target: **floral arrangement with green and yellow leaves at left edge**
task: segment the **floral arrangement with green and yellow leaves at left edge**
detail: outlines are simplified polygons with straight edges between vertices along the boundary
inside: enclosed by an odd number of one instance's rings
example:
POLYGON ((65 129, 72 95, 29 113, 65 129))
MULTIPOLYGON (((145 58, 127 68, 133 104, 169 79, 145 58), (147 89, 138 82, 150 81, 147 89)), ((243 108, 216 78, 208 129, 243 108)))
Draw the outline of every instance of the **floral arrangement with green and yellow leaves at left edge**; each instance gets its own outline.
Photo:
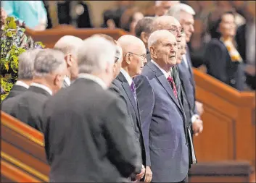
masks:
POLYGON ((25 24, 14 17, 1 19, 1 101, 8 95, 17 81, 18 57, 31 48, 44 48, 41 42, 34 42, 25 35, 25 24))

